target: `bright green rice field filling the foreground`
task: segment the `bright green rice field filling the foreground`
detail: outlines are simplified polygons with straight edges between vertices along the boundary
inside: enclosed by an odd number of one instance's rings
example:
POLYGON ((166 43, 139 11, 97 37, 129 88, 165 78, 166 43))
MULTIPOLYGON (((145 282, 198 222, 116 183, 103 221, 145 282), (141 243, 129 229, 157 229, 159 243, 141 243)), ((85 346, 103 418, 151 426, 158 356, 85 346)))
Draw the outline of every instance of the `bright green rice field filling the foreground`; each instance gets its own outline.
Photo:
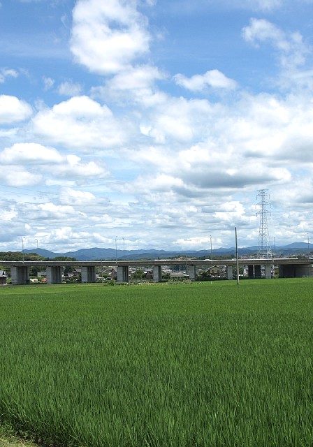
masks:
POLYGON ((46 446, 313 446, 313 279, 0 289, 0 424, 46 446))

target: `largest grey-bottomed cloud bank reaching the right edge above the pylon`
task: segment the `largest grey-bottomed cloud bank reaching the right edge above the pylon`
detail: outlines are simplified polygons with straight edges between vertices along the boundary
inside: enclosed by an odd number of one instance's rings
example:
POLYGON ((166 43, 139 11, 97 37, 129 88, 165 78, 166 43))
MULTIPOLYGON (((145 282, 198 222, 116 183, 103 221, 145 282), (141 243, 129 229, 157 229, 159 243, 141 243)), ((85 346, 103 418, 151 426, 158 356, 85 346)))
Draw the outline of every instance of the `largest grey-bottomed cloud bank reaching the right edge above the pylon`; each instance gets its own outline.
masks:
POLYGON ((141 175, 123 191, 156 203, 195 203, 212 191, 289 184, 298 167, 312 167, 312 119, 310 98, 245 94, 235 108, 168 98, 145 114, 141 131, 153 143, 127 152, 141 175))

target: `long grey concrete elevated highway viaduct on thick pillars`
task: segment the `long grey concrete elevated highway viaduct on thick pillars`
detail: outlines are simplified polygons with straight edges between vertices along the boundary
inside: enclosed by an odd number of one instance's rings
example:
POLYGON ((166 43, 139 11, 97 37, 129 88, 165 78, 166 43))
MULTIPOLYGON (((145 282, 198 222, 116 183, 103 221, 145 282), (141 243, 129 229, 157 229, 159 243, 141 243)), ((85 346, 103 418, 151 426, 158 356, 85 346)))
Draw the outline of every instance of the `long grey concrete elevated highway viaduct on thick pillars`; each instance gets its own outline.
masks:
MULTIPOLYGON (((117 269, 117 281, 129 281, 130 267, 150 267, 153 269, 154 282, 162 279, 162 266, 183 265, 188 266, 189 279, 196 279, 198 268, 209 268, 212 265, 226 266, 227 279, 233 279, 233 267, 236 259, 158 259, 154 261, 1 261, 3 268, 10 268, 12 284, 27 284, 29 282, 29 268, 41 267, 47 271, 48 284, 60 284, 63 279, 65 267, 81 268, 82 282, 89 283, 96 281, 96 267, 114 267, 117 269)), ((260 278, 261 270, 265 278, 272 277, 273 266, 279 268, 279 277, 313 277, 313 261, 310 259, 297 258, 249 258, 239 259, 239 265, 247 266, 249 278, 260 278)))

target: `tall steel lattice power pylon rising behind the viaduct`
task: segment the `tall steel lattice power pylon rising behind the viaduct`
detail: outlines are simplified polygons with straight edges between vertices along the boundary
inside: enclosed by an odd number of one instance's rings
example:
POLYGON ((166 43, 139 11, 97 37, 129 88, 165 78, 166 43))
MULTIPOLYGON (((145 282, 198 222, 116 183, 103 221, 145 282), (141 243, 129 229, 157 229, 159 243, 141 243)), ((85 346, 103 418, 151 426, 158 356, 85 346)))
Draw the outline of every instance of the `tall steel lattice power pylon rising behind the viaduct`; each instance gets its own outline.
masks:
POLYGON ((268 194, 268 189, 259 189, 259 194, 256 199, 260 198, 257 205, 260 210, 256 213, 256 216, 260 216, 260 229, 259 229, 259 247, 258 256, 259 258, 270 258, 272 256, 272 248, 270 247, 270 235, 268 233, 268 214, 270 211, 267 207, 270 206, 269 202, 266 202, 265 198, 270 198, 268 194))

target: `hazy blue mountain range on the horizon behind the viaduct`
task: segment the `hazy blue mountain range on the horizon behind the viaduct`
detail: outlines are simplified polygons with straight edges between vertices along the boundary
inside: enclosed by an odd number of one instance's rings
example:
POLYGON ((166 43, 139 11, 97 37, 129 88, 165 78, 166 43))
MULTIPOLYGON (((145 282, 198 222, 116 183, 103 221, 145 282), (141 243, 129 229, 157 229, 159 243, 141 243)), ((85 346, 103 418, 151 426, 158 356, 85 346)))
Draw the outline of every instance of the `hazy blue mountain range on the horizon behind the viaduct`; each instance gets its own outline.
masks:
MULTIPOLYGON (((238 248, 239 256, 256 254, 258 247, 244 247, 238 248)), ((288 256, 295 254, 307 254, 308 251, 313 251, 313 244, 306 244, 305 242, 293 242, 293 244, 285 245, 283 247, 275 247, 276 256, 288 256)), ((24 253, 36 253, 45 258, 58 258, 60 256, 66 256, 69 258, 75 258, 78 261, 115 261, 127 260, 127 259, 166 259, 174 258, 178 256, 197 256, 201 258, 210 258, 210 250, 180 250, 180 251, 166 251, 155 249, 142 249, 142 250, 117 250, 115 249, 101 249, 95 247, 92 249, 80 249, 77 251, 66 251, 66 253, 54 253, 53 251, 44 249, 30 249, 24 250, 24 253)), ((212 249, 212 256, 235 256, 235 247, 212 249)))

